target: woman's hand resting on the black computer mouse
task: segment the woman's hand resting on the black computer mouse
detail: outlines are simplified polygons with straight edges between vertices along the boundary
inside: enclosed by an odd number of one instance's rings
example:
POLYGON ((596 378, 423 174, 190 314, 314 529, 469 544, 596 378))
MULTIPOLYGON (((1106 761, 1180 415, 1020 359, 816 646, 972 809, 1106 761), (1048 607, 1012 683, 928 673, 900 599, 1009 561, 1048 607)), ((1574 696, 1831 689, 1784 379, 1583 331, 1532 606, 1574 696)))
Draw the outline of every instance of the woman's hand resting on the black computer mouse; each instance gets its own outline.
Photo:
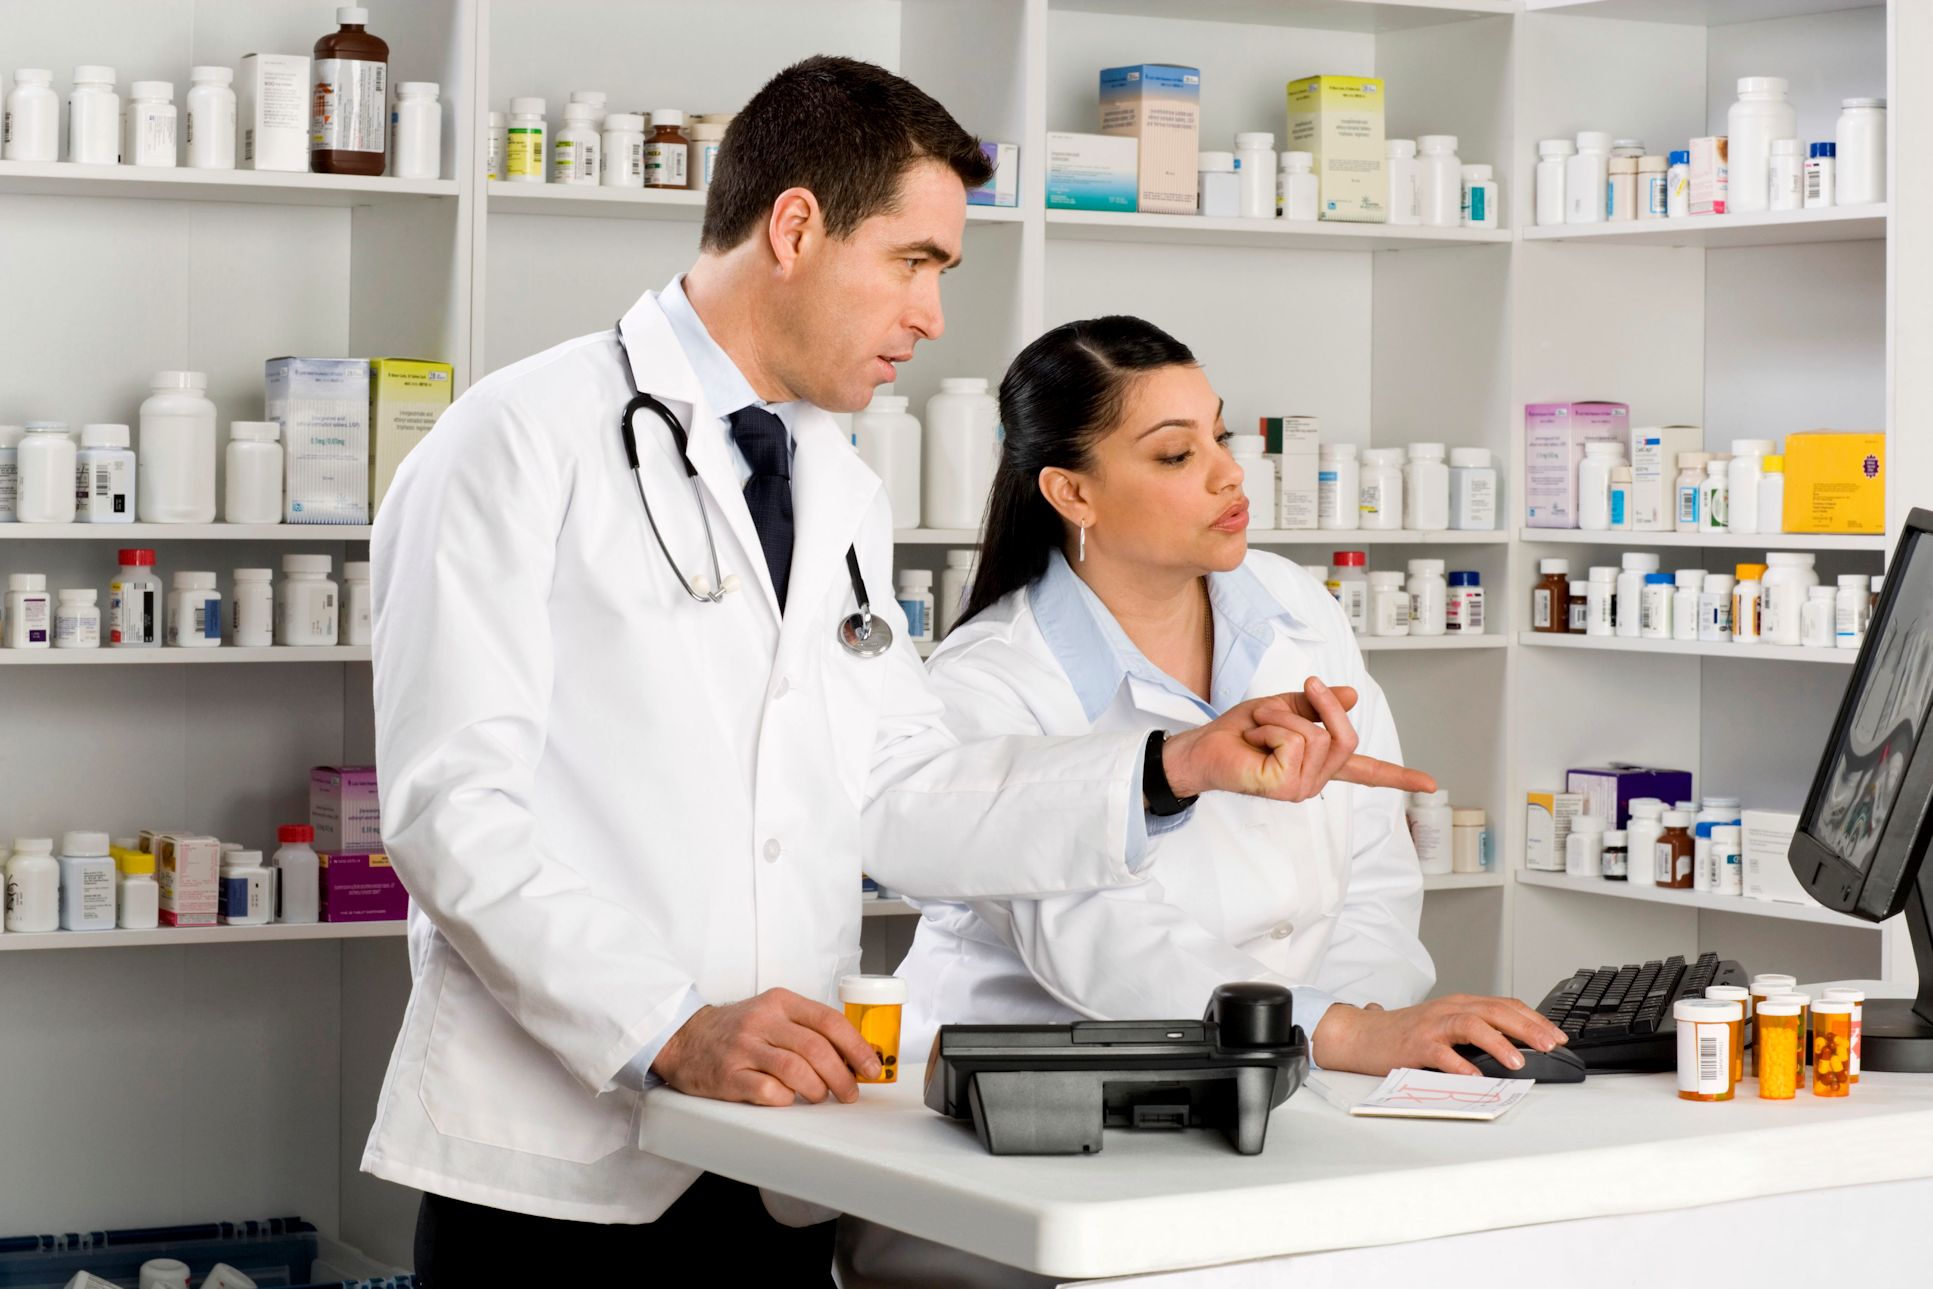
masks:
POLYGON ((1506 1069, 1521 1069, 1517 1047, 1550 1051, 1566 1038, 1529 1003, 1452 993, 1396 1011, 1336 1003, 1322 1013, 1313 1042, 1316 1065, 1330 1071, 1388 1074, 1392 1069, 1438 1069, 1475 1074, 1477 1067, 1456 1053, 1457 1044, 1483 1047, 1506 1069))

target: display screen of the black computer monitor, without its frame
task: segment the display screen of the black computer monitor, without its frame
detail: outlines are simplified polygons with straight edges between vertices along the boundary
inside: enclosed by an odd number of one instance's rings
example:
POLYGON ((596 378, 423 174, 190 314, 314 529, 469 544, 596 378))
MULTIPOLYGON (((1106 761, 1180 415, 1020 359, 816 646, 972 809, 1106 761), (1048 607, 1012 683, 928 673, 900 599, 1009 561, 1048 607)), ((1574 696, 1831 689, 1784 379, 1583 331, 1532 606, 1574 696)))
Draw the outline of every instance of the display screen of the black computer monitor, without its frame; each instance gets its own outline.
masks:
POLYGON ((1802 829, 1861 874, 1898 804, 1933 700, 1933 549, 1908 530, 1887 570, 1892 611, 1865 642, 1865 684, 1831 750, 1825 792, 1802 829))

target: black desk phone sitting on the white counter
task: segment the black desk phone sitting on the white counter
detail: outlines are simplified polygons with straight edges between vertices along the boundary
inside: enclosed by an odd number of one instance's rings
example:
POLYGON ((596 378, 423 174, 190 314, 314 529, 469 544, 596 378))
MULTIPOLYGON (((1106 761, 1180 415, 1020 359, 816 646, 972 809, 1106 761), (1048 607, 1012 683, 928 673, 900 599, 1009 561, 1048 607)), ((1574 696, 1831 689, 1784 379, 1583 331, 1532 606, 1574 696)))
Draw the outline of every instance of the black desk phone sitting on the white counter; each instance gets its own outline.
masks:
POLYGON ((1094 1154, 1102 1127, 1220 1129, 1253 1156, 1307 1074, 1289 991, 1251 982, 1220 986, 1200 1020, 941 1026, 926 1103, 997 1156, 1094 1154))

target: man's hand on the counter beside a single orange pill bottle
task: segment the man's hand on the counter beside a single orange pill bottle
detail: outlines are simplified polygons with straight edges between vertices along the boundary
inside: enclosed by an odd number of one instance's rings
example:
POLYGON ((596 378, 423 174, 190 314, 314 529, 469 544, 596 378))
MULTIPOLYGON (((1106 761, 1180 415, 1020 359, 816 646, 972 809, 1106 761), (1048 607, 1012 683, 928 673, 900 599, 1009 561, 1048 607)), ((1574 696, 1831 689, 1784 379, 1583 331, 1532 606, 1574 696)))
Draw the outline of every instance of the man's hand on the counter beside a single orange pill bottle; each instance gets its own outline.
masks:
POLYGON ((793 1098, 858 1100, 858 1071, 880 1076, 880 1057, 843 1013, 791 989, 702 1007, 657 1051, 651 1073, 678 1092, 717 1102, 791 1105, 793 1098))

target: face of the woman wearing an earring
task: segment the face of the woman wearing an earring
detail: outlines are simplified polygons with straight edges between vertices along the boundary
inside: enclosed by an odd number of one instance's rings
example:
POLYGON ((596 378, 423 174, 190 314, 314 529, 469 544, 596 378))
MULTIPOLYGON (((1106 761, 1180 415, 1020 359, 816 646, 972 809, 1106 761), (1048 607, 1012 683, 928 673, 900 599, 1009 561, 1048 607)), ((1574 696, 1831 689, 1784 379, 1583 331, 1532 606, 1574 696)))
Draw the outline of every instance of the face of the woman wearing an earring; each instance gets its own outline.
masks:
MULTIPOLYGON (((1227 439, 1222 400, 1202 369, 1158 367, 1129 387, 1119 423, 1092 448, 1092 468, 1069 472, 1079 499, 1055 497, 1046 477, 1042 487, 1063 516, 1086 520, 1090 559, 1227 572, 1249 553, 1251 518, 1227 439)), ((1274 516, 1258 518, 1268 526, 1274 516)))

